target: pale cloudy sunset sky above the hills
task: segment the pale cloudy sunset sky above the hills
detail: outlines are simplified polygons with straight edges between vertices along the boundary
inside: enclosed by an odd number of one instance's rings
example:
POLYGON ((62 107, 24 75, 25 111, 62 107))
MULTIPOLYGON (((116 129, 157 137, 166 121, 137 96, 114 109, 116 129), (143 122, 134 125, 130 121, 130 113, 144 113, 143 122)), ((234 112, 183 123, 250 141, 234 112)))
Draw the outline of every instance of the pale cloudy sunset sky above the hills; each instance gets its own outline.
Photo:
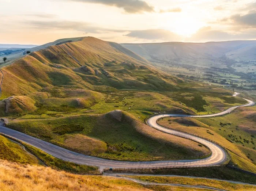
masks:
POLYGON ((0 43, 256 40, 251 0, 0 0, 0 43))

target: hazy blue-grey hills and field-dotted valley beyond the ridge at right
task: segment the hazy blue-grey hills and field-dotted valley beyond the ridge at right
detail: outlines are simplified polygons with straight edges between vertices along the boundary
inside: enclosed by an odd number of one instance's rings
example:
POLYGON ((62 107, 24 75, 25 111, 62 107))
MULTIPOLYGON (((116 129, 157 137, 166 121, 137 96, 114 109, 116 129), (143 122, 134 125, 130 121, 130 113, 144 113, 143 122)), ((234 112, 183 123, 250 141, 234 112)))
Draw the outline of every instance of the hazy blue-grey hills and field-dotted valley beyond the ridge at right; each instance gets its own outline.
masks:
POLYGON ((255 90, 256 41, 122 44, 183 79, 255 90))

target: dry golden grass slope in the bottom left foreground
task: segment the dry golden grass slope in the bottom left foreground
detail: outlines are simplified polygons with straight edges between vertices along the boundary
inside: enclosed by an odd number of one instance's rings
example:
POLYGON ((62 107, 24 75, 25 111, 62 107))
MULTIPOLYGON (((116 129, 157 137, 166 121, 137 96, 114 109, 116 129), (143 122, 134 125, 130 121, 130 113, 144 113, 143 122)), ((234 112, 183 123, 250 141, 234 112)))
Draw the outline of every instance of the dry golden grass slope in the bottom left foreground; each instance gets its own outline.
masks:
MULTIPOLYGON (((19 165, 0 160, 1 191, 150 191, 197 190, 182 187, 142 186, 141 184, 114 177, 74 175, 49 167, 19 165)), ((202 190, 202 189, 200 189, 202 190)))

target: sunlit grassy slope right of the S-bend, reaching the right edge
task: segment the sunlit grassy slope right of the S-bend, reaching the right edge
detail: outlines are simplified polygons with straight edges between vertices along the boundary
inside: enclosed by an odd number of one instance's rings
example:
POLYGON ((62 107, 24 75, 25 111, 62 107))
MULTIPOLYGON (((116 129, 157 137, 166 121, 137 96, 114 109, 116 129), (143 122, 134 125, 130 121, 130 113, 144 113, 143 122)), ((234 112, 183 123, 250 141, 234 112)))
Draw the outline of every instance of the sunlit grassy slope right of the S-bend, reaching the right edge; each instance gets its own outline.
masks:
POLYGON ((214 118, 186 118, 186 121, 164 118, 159 123, 218 142, 230 151, 231 164, 247 171, 256 172, 255 137, 253 137, 255 122, 253 117, 248 118, 250 116, 248 114, 253 116, 254 110, 255 107, 238 108, 228 115, 214 118))

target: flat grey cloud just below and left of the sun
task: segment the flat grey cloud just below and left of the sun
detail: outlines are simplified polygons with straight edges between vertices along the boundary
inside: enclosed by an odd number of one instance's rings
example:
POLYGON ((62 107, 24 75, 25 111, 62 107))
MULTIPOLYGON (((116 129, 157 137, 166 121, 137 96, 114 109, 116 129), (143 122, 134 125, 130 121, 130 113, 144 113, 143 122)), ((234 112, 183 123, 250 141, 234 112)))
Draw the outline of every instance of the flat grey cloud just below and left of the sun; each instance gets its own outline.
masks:
POLYGON ((163 40, 163 41, 180 41, 181 37, 169 30, 149 29, 134 30, 125 35, 127 37, 147 39, 147 40, 163 40))

